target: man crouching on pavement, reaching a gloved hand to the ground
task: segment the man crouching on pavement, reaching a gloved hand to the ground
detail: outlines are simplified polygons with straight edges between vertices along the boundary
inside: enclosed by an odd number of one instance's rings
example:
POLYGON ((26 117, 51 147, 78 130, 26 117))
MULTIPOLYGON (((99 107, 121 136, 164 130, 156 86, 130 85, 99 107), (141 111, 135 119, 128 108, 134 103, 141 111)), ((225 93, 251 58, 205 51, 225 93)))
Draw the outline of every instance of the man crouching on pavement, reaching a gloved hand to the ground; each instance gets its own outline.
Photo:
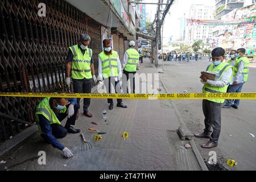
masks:
POLYGON ((78 111, 76 98, 44 98, 36 107, 36 121, 39 124, 41 137, 46 142, 51 143, 54 148, 63 151, 66 158, 73 156, 69 148, 64 147, 57 138, 64 138, 67 133, 80 133, 79 129, 74 129, 76 114, 78 111), (61 125, 68 117, 65 127, 61 125))

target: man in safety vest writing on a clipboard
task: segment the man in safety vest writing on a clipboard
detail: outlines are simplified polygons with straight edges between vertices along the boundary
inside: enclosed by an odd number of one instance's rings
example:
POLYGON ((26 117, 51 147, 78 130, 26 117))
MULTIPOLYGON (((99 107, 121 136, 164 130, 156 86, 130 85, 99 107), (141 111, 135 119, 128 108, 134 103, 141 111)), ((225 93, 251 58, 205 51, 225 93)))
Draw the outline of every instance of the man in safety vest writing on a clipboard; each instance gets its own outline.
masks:
MULTIPOLYGON (((226 93, 233 71, 228 63, 224 63, 224 60, 225 50, 221 47, 213 49, 212 64, 207 67, 207 72, 215 73, 216 80, 208 80, 207 77, 201 75, 201 82, 204 84, 203 93, 226 93)), ((201 145, 203 148, 218 146, 221 132, 221 104, 224 101, 222 99, 203 100, 205 129, 203 133, 195 134, 195 137, 210 139, 209 142, 201 145)))

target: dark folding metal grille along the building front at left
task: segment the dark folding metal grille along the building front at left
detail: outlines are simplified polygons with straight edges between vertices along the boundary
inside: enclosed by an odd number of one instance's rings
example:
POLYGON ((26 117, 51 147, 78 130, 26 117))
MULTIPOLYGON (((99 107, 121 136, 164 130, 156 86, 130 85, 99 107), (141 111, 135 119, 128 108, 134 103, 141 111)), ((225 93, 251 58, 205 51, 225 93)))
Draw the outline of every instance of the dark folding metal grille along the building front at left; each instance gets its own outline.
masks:
MULTIPOLYGON (((0 8, 0 92, 67 91, 65 59, 68 47, 78 43, 81 33, 92 38, 97 73, 101 25, 89 16, 62 0, 1 0, 0 8), (38 16, 39 3, 46 4, 46 17, 38 16)), ((0 113, 34 123, 39 101, 0 97, 0 113)), ((0 142, 26 127, 0 117, 0 142)))

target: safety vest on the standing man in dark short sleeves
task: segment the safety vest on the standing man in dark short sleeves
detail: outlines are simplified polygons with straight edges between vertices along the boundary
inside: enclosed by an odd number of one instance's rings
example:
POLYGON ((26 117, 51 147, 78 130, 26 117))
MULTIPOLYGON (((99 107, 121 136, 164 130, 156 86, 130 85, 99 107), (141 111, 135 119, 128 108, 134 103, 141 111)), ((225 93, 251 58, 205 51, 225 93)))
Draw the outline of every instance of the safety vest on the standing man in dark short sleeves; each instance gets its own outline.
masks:
POLYGON ((84 55, 82 54, 79 45, 69 47, 73 53, 73 62, 71 74, 73 79, 90 79, 92 72, 90 69, 90 60, 92 59, 92 49, 87 48, 84 55))

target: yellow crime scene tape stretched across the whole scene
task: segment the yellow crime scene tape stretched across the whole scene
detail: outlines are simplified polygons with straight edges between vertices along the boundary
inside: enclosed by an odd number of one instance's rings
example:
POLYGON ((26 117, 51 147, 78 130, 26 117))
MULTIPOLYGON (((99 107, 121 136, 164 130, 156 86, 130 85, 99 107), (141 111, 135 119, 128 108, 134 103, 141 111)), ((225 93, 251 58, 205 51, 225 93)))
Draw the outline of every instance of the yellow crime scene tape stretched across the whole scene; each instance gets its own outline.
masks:
POLYGON ((256 93, 159 93, 159 94, 0 93, 0 97, 122 98, 122 99, 136 99, 136 100, 201 100, 201 99, 256 100, 256 93))

